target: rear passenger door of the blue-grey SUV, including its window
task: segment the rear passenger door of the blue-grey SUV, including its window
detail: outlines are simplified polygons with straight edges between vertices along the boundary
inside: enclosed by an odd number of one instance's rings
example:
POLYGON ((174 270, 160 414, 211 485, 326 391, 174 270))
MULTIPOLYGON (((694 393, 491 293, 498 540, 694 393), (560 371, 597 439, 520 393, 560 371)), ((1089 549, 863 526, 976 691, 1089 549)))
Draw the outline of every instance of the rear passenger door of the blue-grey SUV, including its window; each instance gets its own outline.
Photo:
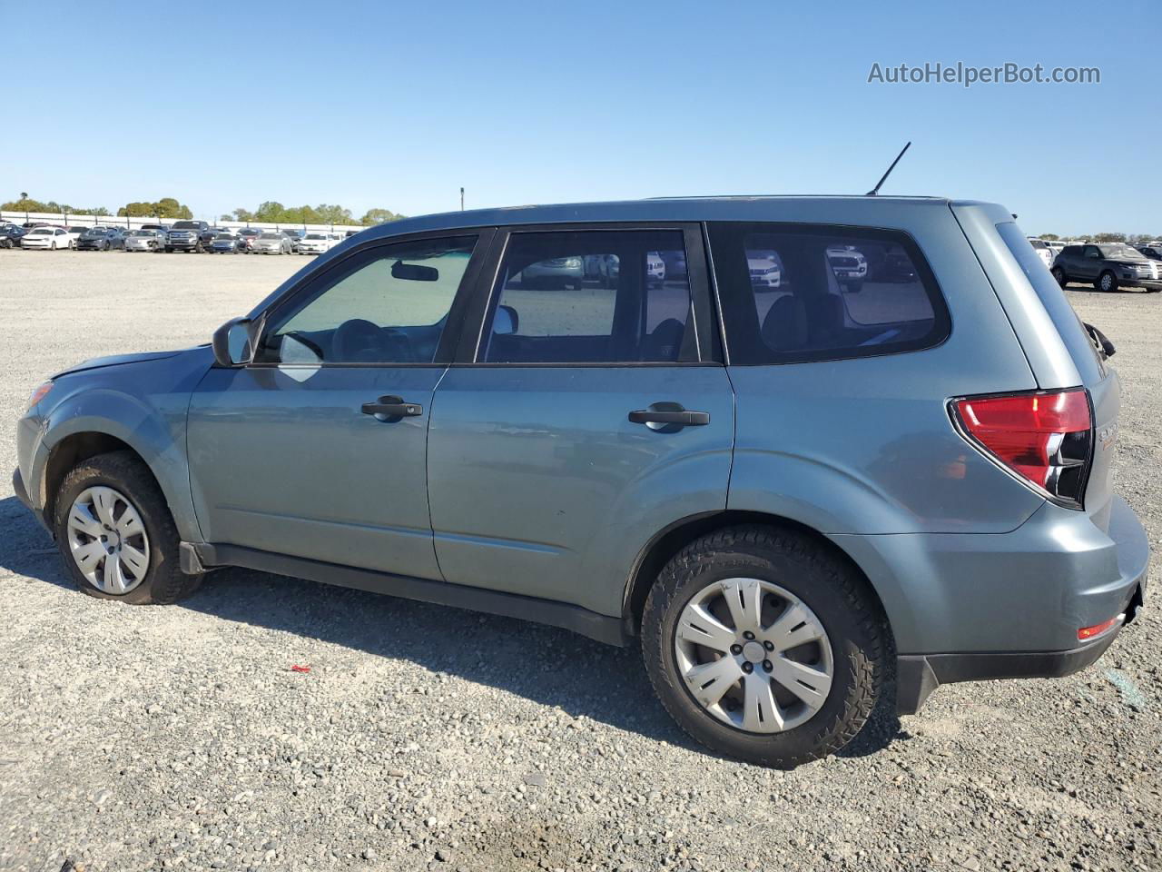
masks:
POLYGON ((733 394, 700 230, 530 228, 494 248, 432 405, 440 569, 619 614, 651 537, 726 506, 733 394))

